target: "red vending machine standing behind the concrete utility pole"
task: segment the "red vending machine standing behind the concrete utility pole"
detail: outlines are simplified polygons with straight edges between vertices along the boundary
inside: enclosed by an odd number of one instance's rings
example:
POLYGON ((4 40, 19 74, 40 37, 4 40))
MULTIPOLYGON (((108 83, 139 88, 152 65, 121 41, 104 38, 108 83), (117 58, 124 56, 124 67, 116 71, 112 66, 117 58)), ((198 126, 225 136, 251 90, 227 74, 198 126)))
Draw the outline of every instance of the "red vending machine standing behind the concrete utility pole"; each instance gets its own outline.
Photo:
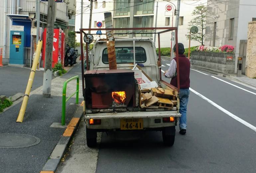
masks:
MULTIPOLYGON (((43 32, 43 67, 45 67, 45 47, 46 47, 46 32, 47 29, 45 28, 43 32)), ((61 63, 62 65, 64 64, 64 52, 63 49, 65 45, 62 43, 62 40, 64 42, 65 40, 65 34, 63 33, 63 30, 60 29, 54 29, 54 34, 53 34, 53 63, 52 67, 55 66, 57 63, 61 63), (64 38, 62 38, 64 37, 64 38)), ((64 67, 64 65, 63 65, 64 67)))

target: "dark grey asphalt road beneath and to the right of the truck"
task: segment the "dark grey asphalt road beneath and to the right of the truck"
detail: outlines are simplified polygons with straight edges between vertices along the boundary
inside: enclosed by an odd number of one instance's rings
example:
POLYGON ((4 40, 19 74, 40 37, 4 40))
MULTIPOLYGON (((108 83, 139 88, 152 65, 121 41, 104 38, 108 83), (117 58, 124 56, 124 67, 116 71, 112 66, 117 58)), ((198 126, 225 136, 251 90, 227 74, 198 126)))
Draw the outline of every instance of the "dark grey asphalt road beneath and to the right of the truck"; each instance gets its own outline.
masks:
POLYGON ((187 134, 177 127, 174 146, 165 147, 161 132, 128 142, 102 133, 96 173, 256 172, 256 88, 195 70, 190 79, 187 134))

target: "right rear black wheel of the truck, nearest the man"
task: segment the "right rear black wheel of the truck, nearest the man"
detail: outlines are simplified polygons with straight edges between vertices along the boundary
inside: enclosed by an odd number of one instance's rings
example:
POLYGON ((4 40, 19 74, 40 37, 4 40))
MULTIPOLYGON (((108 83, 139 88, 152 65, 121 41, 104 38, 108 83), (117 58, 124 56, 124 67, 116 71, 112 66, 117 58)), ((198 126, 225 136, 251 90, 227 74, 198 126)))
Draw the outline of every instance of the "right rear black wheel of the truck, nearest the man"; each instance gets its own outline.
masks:
POLYGON ((166 146, 173 146, 175 141, 175 126, 166 127, 162 131, 163 142, 166 146))

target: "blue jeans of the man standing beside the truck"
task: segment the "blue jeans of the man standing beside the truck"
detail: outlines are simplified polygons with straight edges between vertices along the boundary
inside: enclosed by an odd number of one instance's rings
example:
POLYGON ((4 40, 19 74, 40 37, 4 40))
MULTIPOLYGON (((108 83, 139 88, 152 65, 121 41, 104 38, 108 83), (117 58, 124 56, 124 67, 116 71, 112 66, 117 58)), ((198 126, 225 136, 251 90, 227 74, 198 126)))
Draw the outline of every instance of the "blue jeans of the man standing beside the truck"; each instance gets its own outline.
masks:
POLYGON ((187 104, 189 101, 189 89, 180 89, 180 129, 187 129, 187 104))

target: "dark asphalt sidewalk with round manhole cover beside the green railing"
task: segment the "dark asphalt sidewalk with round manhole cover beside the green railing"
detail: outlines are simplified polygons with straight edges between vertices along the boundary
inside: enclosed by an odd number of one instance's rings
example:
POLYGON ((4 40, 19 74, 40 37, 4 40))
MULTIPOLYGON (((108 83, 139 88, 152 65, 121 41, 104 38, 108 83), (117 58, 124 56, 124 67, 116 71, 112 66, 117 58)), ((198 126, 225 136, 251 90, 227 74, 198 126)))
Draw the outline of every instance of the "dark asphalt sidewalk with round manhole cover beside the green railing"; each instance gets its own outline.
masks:
MULTIPOLYGON (((65 130, 65 128, 50 127, 53 123, 61 122, 63 83, 67 78, 81 73, 80 66, 77 64, 61 78, 52 80, 51 98, 43 98, 42 86, 37 88, 29 96, 23 123, 16 123, 22 102, 0 114, 0 172, 40 172, 42 170, 65 130), (1 139, 3 134, 17 134, 9 144, 15 144, 20 148, 4 148, 3 143, 6 138, 1 139), (37 138, 36 140, 35 138, 27 139, 23 135, 32 135, 37 138), (39 143, 34 146, 21 147, 24 144, 29 145, 29 142, 39 143)), ((27 75, 29 77, 29 73, 27 75)), ((81 103, 83 100, 82 82, 81 78, 79 79, 79 103, 81 103)), ((9 86, 15 90, 14 85, 9 86)), ((76 80, 73 80, 67 84, 66 95, 71 95, 75 90, 76 80)), ((18 101, 22 100, 23 98, 18 101)), ((75 95, 66 103, 66 124, 78 108, 77 105, 70 105, 70 103, 75 103, 75 95)))

